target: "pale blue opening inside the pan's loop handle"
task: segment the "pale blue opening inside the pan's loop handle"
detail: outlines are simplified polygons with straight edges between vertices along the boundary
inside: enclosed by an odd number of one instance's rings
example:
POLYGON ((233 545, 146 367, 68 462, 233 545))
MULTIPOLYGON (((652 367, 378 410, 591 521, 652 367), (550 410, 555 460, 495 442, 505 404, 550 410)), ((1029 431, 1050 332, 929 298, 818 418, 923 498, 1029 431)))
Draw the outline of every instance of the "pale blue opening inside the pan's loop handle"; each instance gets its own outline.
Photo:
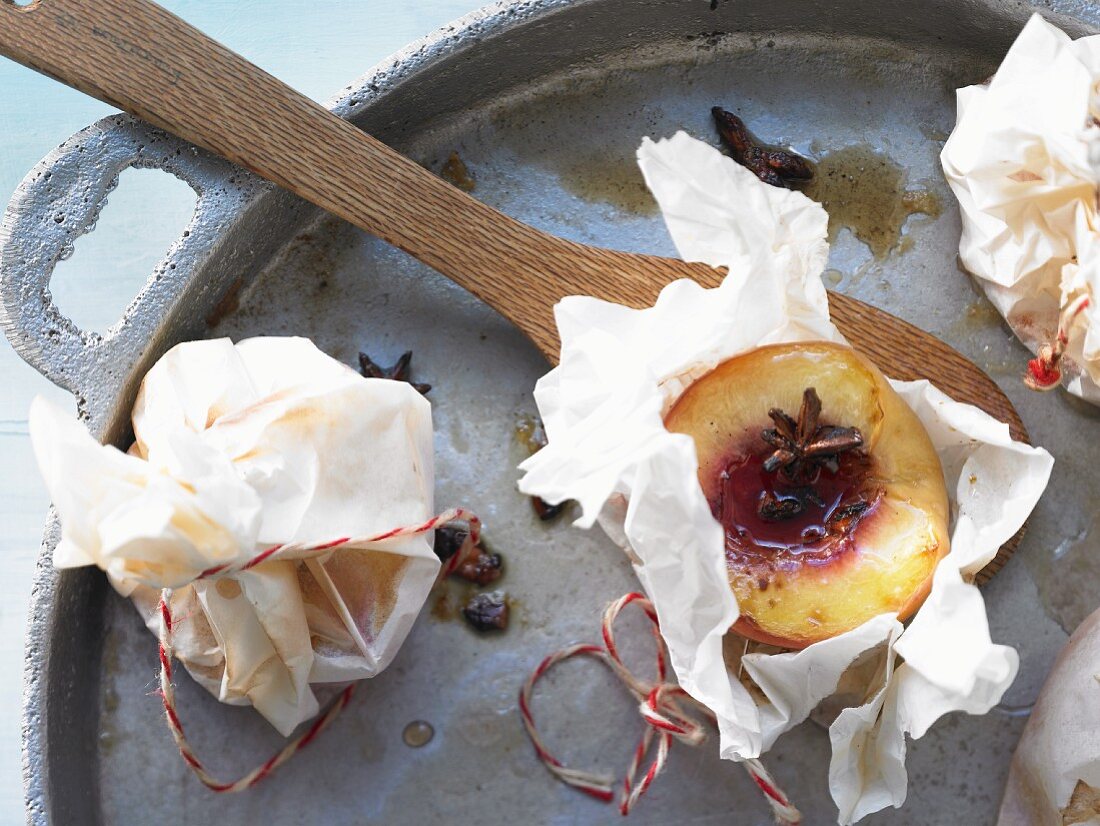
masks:
MULTIPOLYGON (((158 169, 127 168, 98 218, 57 262, 50 291, 78 328, 107 332, 164 261, 190 223, 197 197, 189 185, 158 169), (95 230, 95 231, 92 231, 95 230)), ((70 220, 63 201, 51 229, 70 220)), ((75 219, 73 219, 75 220, 75 219)))

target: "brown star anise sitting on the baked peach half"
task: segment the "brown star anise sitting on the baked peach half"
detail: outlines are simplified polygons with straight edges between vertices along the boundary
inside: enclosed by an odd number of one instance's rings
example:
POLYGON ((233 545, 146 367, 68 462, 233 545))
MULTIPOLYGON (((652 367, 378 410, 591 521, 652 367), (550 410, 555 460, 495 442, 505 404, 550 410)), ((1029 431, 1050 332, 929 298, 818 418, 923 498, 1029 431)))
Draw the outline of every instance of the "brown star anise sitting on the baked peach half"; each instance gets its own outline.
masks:
POLYGON ((777 407, 769 410, 768 416, 776 427, 760 436, 776 451, 765 460, 763 469, 769 473, 782 471, 796 483, 810 481, 818 467, 836 472, 837 456, 861 447, 864 434, 857 428, 821 425, 821 415, 822 400, 813 387, 802 394, 798 421, 777 407))

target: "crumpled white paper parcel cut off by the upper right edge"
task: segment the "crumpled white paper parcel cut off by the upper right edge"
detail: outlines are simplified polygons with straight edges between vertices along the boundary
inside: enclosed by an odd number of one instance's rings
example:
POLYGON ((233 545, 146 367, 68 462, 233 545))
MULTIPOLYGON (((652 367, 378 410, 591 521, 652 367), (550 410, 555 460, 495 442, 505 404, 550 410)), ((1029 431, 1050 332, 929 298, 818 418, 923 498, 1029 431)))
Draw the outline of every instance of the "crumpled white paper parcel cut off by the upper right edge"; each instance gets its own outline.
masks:
POLYGON ((963 212, 959 256, 1032 351, 1069 326, 1063 382, 1100 404, 1100 35, 1032 16, 992 79, 958 90, 944 174, 963 212))

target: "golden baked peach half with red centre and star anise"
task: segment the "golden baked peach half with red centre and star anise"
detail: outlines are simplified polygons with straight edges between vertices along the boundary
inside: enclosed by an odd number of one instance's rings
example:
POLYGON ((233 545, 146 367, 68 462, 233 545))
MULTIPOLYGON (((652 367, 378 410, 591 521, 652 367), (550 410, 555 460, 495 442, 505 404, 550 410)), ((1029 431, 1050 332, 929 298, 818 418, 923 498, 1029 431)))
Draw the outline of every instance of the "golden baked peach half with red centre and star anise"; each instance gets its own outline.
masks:
POLYGON ((694 440, 725 529, 735 632, 799 649, 924 602, 948 549, 943 469, 916 415, 851 348, 729 359, 664 425, 694 440))

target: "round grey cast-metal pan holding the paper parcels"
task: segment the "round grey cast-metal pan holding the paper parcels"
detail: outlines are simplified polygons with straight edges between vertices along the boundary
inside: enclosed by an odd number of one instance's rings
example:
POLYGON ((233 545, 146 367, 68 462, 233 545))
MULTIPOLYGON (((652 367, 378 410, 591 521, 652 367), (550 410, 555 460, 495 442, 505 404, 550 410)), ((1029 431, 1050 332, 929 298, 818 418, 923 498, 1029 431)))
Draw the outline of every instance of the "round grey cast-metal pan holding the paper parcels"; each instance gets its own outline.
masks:
MULTIPOLYGON (((1100 23, 1088 0, 1037 5, 1072 36, 1100 23)), ((882 260, 842 234, 831 282, 985 366, 1058 465, 1019 552, 986 592, 994 638, 1023 659, 1005 706, 986 717, 953 715, 913 744, 905 807, 869 824, 991 823, 1022 714, 1066 638, 1063 626, 1100 602, 1081 550, 1087 540, 1065 542, 1091 527, 1094 414, 1064 396, 1030 395, 1018 381, 1023 349, 956 267, 958 214, 937 162, 954 124, 953 90, 990 75, 1031 11, 994 0, 503 3, 410 46, 332 101, 432 168, 458 152, 476 178, 475 195, 505 212, 641 252, 673 251, 635 173, 634 150, 642 135, 678 129, 713 140, 714 104, 811 154, 869 144, 938 196, 943 213, 911 219, 910 241, 882 260)), ((515 422, 532 411, 530 392, 547 367, 515 329, 402 253, 124 117, 90 126, 43 161, 12 201, 0 241, 9 338, 73 390, 98 436, 119 445, 141 376, 178 341, 308 335, 349 363, 360 349, 380 361, 413 349, 418 376, 433 385, 437 500, 484 517, 516 602, 513 627, 498 637, 426 609, 393 667, 361 687, 332 730, 254 791, 216 795, 191 777, 161 719, 153 637, 98 571, 52 570, 51 521, 26 651, 32 823, 618 819, 614 806, 550 778, 516 715, 517 690, 537 661, 595 638, 602 606, 636 582, 609 541, 568 521, 540 524, 515 491, 524 455, 515 422), (121 322, 102 337, 84 333, 53 306, 50 275, 128 166, 188 181, 197 211, 121 322), (402 731, 418 719, 436 736, 413 749, 402 731)), ((642 658, 649 643, 637 636, 642 658)), ((279 744, 252 711, 179 682, 188 734, 216 772, 235 775, 279 744)), ((608 771, 625 767, 642 725, 625 692, 591 663, 557 671, 540 687, 536 714, 568 762, 608 771)), ((835 822, 824 729, 806 723, 767 762, 806 823, 835 822)), ((716 759, 716 738, 675 746, 631 817, 770 822, 748 779, 716 759)))

